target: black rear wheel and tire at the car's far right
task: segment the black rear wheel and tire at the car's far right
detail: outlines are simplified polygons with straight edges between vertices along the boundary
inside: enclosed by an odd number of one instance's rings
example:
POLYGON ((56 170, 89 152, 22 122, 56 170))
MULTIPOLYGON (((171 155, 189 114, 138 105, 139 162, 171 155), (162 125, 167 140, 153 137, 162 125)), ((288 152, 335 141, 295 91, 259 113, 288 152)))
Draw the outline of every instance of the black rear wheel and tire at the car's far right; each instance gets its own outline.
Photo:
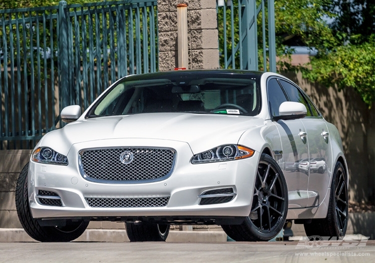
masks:
POLYGON ((337 162, 333 172, 327 216, 311 219, 311 223, 303 224, 306 235, 329 238, 344 236, 348 222, 347 200, 347 175, 342 163, 337 162))

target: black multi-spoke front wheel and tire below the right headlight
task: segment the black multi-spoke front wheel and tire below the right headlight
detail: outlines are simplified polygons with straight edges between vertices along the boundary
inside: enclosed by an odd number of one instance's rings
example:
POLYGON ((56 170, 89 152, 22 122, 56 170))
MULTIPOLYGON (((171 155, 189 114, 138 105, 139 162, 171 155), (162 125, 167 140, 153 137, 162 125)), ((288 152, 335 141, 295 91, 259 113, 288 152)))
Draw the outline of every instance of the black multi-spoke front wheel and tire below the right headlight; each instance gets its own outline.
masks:
POLYGON ((268 241, 282 229, 288 206, 284 175, 276 161, 262 154, 258 163, 250 214, 240 225, 221 225, 235 241, 268 241))

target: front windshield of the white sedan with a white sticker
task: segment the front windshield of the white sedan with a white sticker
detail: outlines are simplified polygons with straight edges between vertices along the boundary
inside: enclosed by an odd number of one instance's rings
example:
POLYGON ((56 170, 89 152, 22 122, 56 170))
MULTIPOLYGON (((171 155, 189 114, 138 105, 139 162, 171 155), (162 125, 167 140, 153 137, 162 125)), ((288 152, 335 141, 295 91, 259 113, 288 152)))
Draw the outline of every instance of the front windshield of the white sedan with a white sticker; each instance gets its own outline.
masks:
POLYGON ((254 116, 259 110, 258 84, 254 79, 244 76, 205 76, 183 81, 168 78, 124 78, 101 97, 86 117, 159 112, 254 116))

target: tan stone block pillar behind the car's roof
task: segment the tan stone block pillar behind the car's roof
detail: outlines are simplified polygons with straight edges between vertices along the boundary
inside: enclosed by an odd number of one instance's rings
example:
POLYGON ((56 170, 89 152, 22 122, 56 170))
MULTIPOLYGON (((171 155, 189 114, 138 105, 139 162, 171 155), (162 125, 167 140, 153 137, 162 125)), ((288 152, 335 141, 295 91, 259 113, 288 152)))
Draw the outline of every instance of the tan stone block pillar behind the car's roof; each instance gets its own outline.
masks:
POLYGON ((189 69, 219 67, 215 0, 157 0, 159 71, 177 67, 177 4, 187 5, 189 69))

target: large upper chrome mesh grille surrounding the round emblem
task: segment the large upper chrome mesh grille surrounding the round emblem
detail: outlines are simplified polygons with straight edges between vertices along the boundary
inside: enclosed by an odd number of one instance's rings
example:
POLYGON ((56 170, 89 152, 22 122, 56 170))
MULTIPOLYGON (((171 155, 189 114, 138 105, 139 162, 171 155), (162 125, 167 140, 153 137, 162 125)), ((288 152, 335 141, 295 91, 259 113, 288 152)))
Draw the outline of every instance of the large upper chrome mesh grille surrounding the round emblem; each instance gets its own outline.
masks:
POLYGON ((173 149, 102 148, 80 152, 81 170, 89 179, 106 181, 139 181, 160 179, 171 172, 173 149), (131 152, 132 161, 123 163, 121 154, 131 152))

